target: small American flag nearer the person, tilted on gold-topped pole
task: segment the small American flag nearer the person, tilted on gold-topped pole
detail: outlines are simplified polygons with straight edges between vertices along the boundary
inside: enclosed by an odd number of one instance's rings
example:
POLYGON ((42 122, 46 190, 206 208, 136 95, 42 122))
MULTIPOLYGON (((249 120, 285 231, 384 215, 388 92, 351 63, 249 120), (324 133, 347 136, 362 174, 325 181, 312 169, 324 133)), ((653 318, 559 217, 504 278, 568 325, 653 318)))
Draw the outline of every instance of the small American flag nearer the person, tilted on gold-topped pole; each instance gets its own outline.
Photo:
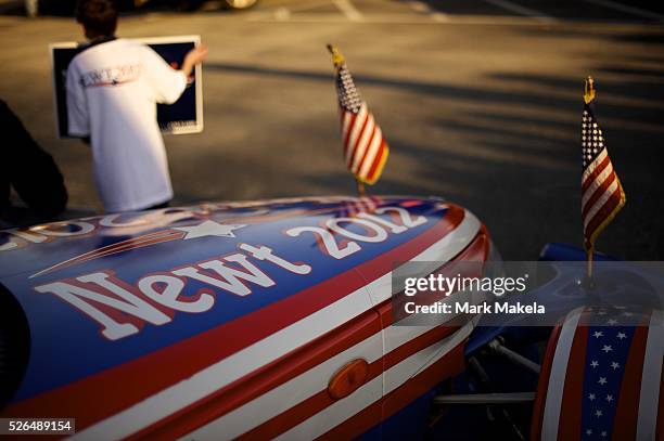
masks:
POLYGON ((373 184, 381 177, 390 147, 367 103, 357 91, 344 57, 336 48, 328 49, 332 52, 336 68, 336 92, 346 167, 359 182, 373 184))

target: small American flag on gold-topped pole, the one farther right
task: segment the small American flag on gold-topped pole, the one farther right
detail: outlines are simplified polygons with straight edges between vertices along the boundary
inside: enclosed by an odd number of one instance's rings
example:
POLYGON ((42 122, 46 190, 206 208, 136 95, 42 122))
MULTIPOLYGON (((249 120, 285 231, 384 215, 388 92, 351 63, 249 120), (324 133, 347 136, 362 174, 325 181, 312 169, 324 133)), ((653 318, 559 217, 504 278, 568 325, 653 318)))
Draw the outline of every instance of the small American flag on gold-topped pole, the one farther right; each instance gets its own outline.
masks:
POLYGON ((582 220, 587 250, 592 250, 597 235, 625 205, 625 192, 595 117, 593 99, 592 78, 589 78, 582 116, 582 220))

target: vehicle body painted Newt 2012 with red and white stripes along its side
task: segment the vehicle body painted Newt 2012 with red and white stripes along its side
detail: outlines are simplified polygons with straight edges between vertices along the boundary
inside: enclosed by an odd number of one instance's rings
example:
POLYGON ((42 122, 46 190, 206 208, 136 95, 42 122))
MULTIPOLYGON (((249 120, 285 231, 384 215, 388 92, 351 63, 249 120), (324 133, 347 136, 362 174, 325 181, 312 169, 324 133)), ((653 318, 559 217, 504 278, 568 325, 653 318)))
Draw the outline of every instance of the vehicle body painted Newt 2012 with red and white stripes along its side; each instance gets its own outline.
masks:
POLYGON ((280 199, 0 232, 30 356, 1 416, 76 417, 75 439, 348 438, 463 368, 462 327, 393 326, 397 262, 487 258, 435 198, 280 199), (366 377, 333 398, 355 360, 366 377), (94 403, 94 404, 91 404, 94 403))

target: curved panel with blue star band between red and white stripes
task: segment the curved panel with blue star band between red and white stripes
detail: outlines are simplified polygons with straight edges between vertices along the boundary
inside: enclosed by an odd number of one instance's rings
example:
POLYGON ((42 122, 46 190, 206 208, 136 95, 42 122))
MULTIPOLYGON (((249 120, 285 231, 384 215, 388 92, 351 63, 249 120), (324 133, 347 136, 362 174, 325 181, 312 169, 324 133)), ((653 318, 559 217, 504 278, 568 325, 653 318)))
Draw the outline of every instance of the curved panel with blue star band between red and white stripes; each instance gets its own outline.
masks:
POLYGON ((532 439, 656 439, 661 333, 661 311, 572 311, 545 354, 532 439))

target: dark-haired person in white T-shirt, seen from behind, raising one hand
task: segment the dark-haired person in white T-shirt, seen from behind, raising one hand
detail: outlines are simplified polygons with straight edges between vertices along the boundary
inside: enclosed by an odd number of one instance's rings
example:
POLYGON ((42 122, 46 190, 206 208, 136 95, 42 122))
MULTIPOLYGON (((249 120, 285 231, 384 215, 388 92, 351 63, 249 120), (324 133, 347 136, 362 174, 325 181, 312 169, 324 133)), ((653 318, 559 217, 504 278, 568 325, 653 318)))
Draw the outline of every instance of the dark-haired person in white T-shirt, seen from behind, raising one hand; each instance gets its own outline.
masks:
POLYGON ((173 189, 156 104, 180 98, 207 49, 192 49, 174 69, 149 47, 115 38, 113 0, 80 0, 76 20, 90 44, 67 68, 68 129, 90 139, 104 210, 167 206, 173 189))

